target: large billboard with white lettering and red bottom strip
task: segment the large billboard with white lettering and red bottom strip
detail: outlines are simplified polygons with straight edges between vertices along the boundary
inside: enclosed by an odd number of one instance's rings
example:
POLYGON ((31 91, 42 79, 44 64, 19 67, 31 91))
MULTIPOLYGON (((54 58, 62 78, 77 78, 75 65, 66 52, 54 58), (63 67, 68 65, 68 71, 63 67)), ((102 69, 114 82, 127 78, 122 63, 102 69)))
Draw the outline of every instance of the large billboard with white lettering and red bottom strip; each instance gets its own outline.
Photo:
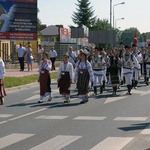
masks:
POLYGON ((0 0, 0 39, 37 40, 37 0, 0 0))

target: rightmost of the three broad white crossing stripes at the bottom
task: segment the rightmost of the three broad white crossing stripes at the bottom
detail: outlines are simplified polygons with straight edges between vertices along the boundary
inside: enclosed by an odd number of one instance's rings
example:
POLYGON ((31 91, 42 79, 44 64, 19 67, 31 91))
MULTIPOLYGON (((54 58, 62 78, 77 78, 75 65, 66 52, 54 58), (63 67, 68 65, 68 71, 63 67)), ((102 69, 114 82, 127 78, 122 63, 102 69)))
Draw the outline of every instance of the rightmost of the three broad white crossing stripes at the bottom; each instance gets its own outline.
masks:
POLYGON ((108 137, 91 150, 121 150, 133 137, 108 137))

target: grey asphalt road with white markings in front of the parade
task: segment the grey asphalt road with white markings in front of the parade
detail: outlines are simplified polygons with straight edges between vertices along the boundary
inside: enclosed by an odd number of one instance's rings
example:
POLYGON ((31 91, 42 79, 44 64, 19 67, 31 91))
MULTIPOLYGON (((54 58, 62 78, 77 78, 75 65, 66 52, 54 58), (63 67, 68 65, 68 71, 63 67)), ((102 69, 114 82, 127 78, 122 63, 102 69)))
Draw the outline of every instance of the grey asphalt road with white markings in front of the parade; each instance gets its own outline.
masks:
POLYGON ((57 84, 53 100, 37 103, 38 83, 7 90, 0 106, 0 149, 4 150, 149 150, 150 86, 142 83, 132 95, 126 87, 79 104, 75 85, 64 104, 57 84))

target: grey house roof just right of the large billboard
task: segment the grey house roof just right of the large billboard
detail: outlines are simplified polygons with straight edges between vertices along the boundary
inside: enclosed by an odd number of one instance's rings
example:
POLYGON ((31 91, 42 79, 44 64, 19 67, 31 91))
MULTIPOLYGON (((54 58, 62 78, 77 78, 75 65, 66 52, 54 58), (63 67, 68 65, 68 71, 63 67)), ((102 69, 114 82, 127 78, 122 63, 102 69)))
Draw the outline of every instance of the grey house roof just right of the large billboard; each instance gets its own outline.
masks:
POLYGON ((50 25, 45 29, 41 30, 40 32, 42 33, 42 35, 58 35, 58 27, 50 25))

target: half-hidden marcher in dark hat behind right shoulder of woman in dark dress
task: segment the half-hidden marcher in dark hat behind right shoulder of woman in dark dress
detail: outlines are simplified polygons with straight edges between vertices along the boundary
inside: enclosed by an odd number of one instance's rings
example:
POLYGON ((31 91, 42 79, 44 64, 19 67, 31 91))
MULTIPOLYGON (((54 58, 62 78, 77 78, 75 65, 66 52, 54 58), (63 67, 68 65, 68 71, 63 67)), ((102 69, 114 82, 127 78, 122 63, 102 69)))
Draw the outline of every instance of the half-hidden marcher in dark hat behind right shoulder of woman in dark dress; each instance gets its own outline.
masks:
MULTIPOLYGON (((119 49, 117 53, 118 53, 119 58, 121 59, 123 54, 125 53, 123 42, 119 43, 119 49)), ((123 76, 123 68, 121 66, 119 67, 119 79, 120 79, 120 84, 123 85, 123 83, 125 83, 125 77, 123 76)))

